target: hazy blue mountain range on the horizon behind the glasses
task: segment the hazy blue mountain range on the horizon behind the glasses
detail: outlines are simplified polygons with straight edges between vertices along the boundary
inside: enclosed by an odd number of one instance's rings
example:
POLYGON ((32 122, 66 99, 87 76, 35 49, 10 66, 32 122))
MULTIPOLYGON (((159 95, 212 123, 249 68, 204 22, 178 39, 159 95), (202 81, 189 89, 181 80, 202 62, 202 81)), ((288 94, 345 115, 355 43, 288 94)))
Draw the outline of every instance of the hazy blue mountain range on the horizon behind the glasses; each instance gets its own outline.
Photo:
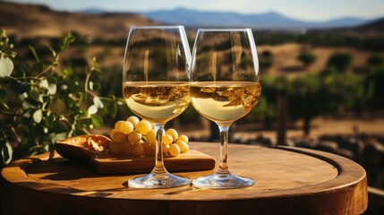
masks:
POLYGON ((201 12, 185 8, 141 13, 157 22, 196 27, 250 27, 257 29, 329 29, 354 27, 369 22, 359 18, 342 18, 329 22, 304 22, 279 13, 241 14, 201 12))

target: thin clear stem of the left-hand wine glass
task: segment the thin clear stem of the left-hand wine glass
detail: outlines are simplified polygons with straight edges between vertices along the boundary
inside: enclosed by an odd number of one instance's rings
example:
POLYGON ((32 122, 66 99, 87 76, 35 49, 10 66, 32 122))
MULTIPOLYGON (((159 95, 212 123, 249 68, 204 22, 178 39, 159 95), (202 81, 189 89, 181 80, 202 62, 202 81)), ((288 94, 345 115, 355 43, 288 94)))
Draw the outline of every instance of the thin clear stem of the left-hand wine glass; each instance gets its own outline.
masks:
POLYGON ((163 159, 163 131, 164 125, 155 125, 156 133, 156 160, 155 168, 152 169, 153 175, 166 174, 166 168, 164 167, 163 159))

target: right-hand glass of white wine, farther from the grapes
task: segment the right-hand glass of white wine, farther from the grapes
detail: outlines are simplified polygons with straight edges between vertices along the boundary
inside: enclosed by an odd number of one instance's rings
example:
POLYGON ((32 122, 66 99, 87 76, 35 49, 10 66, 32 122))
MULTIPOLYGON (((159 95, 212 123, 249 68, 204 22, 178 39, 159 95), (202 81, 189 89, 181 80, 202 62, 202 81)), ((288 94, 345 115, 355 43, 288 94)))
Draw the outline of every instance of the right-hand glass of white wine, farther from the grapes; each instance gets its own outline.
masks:
POLYGON ((260 72, 251 29, 200 29, 192 51, 193 107, 218 125, 220 163, 216 173, 192 181, 201 188, 225 189, 254 185, 228 168, 229 126, 245 116, 260 98, 260 72))

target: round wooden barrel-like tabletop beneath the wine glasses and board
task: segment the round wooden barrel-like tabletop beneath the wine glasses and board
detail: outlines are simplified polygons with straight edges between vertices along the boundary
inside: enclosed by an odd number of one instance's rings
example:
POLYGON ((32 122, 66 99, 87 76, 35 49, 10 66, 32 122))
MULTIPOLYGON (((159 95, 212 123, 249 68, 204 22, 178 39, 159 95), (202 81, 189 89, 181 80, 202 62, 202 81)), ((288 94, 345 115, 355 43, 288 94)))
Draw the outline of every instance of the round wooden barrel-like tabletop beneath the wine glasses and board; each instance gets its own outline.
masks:
MULTIPOLYGON (((219 144, 191 142, 218 160, 219 144)), ((14 161, 1 174, 4 214, 361 214, 364 169, 317 150, 229 144, 229 167, 256 184, 242 189, 192 186, 133 189, 135 175, 99 175, 86 165, 48 155, 14 161)), ((213 170, 176 173, 196 178, 213 170)))

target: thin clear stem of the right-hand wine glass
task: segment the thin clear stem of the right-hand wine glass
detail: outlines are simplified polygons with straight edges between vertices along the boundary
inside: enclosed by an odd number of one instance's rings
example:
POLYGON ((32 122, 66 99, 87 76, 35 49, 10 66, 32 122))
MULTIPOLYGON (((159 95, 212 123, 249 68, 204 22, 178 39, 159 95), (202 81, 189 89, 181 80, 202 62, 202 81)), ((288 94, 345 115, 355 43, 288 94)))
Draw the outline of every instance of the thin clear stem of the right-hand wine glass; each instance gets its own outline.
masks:
POLYGON ((229 125, 218 125, 220 131, 220 164, 217 174, 231 174, 226 159, 228 158, 228 131, 229 125))

